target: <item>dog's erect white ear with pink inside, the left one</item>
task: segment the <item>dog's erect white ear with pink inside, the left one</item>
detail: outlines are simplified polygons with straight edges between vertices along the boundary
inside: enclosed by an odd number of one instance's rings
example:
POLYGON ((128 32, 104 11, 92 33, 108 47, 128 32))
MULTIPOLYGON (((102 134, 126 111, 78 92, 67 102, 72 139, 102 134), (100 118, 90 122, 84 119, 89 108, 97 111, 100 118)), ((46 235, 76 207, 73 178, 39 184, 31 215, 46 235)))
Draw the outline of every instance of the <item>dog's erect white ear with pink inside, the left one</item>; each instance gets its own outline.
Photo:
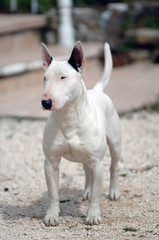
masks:
POLYGON ((53 57, 51 56, 51 53, 49 52, 44 43, 41 44, 41 58, 43 61, 44 70, 46 71, 51 64, 53 57))

